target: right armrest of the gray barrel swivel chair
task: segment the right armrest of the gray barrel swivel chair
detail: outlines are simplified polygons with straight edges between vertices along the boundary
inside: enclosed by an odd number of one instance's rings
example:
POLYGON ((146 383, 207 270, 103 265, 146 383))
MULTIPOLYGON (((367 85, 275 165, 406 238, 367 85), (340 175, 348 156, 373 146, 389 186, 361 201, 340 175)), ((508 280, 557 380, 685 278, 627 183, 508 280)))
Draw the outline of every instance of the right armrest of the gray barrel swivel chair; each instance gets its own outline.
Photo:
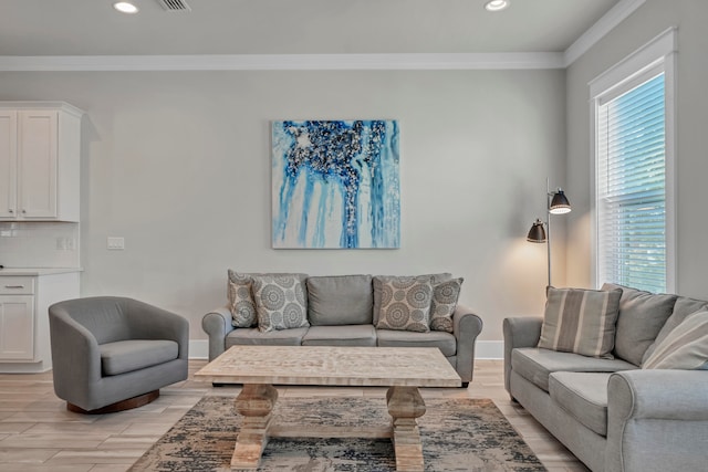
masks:
POLYGON ((189 322, 138 300, 128 298, 126 316, 131 337, 135 339, 169 339, 179 345, 180 359, 189 357, 189 322))

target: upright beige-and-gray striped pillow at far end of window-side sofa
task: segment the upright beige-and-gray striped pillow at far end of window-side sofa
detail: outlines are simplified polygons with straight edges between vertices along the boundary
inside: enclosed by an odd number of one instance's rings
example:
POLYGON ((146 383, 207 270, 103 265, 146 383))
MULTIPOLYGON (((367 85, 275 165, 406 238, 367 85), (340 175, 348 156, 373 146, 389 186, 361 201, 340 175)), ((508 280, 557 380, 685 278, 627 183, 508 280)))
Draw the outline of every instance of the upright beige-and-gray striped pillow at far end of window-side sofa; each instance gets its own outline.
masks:
POLYGON ((548 287, 539 346, 612 359, 622 290, 548 287))

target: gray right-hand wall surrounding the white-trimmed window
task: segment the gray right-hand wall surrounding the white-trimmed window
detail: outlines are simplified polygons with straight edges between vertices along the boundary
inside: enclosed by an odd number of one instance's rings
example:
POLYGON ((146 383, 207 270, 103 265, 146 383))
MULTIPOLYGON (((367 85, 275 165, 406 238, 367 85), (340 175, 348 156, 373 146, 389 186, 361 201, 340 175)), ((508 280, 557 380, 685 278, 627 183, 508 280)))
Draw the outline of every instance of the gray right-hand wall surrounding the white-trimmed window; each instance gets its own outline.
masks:
POLYGON ((568 69, 568 283, 592 286, 590 239, 590 104, 587 82, 667 28, 678 28, 677 54, 677 292, 708 298, 708 2, 647 0, 637 11, 568 69))

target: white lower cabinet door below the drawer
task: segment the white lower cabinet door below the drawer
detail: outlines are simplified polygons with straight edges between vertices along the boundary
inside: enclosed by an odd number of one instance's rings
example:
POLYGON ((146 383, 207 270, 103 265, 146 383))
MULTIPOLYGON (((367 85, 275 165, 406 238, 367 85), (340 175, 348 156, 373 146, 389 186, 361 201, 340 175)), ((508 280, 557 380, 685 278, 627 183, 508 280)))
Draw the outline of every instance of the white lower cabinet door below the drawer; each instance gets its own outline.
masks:
POLYGON ((34 358, 34 296, 0 296, 0 359, 34 358))

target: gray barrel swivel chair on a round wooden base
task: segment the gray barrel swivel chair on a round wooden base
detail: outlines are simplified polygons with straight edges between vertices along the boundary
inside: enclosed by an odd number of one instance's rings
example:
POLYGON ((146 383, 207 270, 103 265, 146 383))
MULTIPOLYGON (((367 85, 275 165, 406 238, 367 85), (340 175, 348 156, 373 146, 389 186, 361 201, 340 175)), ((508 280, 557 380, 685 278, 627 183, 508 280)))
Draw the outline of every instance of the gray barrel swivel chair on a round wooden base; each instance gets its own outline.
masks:
POLYGON ((187 379, 189 323, 117 296, 67 300, 49 307, 54 391, 72 411, 121 411, 187 379))

